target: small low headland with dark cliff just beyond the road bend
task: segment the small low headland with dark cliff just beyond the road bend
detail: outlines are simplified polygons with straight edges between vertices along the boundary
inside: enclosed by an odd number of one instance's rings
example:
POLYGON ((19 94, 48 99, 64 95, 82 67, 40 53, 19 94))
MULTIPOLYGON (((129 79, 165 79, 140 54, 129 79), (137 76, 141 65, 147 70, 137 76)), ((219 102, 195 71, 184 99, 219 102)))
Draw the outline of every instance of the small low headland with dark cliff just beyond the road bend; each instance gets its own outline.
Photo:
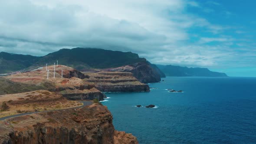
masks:
POLYGON ((61 91, 60 93, 65 98, 68 98, 70 100, 93 100, 93 99, 97 98, 98 101, 103 101, 104 98, 107 98, 105 94, 103 94, 96 88, 84 89, 84 90, 66 89, 64 91, 61 91))

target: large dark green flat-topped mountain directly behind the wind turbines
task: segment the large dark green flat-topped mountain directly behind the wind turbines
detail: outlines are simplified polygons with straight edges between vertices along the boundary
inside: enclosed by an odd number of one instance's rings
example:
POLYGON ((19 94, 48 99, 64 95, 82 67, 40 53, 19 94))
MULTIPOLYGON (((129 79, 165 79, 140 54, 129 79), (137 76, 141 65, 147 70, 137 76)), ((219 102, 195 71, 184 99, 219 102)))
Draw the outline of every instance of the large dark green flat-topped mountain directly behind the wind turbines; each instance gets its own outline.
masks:
POLYGON ((53 64, 59 61, 59 64, 70 66, 74 69, 104 69, 130 65, 136 62, 146 62, 146 59, 140 58, 138 54, 132 52, 120 52, 105 49, 92 48, 74 48, 60 49, 57 52, 49 53, 43 56, 33 66, 44 66, 46 63, 53 64))

